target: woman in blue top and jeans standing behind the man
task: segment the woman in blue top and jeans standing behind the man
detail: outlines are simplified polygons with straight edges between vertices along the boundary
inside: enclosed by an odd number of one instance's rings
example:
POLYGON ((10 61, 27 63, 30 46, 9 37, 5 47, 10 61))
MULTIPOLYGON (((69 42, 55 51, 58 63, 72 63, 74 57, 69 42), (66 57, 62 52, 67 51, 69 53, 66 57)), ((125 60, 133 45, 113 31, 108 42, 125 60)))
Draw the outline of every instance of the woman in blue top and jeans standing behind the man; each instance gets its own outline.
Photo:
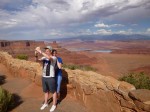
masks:
POLYGON ((62 82, 62 59, 57 56, 57 51, 53 49, 52 55, 57 58, 57 63, 55 65, 55 78, 56 78, 56 92, 57 92, 57 99, 60 98, 60 87, 62 82))

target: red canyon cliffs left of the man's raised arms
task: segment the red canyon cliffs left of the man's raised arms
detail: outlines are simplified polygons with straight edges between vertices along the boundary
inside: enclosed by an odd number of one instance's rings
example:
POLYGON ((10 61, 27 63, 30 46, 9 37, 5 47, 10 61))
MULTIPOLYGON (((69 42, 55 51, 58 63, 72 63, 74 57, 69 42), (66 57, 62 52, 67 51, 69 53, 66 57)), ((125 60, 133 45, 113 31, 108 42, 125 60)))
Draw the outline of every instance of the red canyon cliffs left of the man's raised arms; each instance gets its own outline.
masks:
POLYGON ((37 46, 44 47, 45 44, 42 41, 0 41, 0 50, 8 52, 13 57, 19 54, 26 54, 28 57, 33 57, 34 49, 37 46))

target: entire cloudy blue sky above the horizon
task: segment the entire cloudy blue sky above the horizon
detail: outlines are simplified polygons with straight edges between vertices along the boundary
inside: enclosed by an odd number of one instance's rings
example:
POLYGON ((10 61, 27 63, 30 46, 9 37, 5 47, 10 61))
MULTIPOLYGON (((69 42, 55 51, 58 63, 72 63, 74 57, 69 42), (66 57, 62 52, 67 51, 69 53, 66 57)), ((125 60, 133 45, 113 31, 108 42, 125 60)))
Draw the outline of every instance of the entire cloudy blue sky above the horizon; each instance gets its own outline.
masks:
POLYGON ((150 0, 0 0, 0 39, 150 35, 150 0))

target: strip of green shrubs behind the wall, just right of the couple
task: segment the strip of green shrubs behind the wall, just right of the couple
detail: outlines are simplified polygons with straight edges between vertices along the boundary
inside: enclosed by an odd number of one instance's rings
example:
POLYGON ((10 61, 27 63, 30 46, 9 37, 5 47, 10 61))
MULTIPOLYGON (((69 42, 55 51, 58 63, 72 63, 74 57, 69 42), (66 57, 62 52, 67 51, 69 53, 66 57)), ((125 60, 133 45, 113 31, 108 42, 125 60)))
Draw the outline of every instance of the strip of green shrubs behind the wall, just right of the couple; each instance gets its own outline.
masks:
POLYGON ((64 68, 68 68, 68 69, 71 69, 71 70, 75 70, 75 69, 80 69, 80 70, 83 70, 83 71, 96 71, 95 68, 92 68, 90 66, 83 66, 83 65, 73 65, 73 64, 64 64, 63 65, 64 68))

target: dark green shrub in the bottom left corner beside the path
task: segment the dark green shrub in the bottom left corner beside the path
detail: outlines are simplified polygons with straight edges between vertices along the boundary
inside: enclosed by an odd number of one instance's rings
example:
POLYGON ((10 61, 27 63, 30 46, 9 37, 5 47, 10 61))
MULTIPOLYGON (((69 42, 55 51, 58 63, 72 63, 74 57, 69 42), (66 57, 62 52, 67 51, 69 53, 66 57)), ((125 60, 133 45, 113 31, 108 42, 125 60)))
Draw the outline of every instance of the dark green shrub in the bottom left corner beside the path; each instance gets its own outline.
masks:
POLYGON ((0 112, 7 112, 14 106, 14 98, 11 93, 0 87, 0 112))

